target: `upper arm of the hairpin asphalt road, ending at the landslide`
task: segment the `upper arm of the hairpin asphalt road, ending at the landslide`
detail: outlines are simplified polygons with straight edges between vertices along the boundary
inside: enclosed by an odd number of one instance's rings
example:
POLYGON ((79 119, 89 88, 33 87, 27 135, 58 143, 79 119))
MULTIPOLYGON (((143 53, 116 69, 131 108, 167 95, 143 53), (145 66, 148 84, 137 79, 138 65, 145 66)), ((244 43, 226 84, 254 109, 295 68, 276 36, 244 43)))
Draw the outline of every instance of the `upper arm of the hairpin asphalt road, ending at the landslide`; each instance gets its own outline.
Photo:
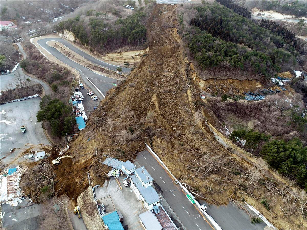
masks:
MULTIPOLYGON (((78 49, 76 46, 70 44, 70 42, 68 42, 67 40, 65 40, 63 38, 58 38, 58 37, 43 38, 43 39, 38 40, 37 43, 40 44, 41 46, 44 45, 44 48, 45 48, 46 42, 47 41, 52 41, 52 40, 56 40, 57 42, 62 43, 64 46, 66 46, 67 48, 71 49, 73 52, 76 52, 80 56, 83 56, 85 59, 87 59, 91 63, 94 63, 96 65, 99 65, 101 67, 104 67, 104 68, 107 68, 107 69, 111 69, 111 70, 116 70, 116 68, 119 67, 119 66, 115 66, 115 65, 112 65, 112 64, 100 61, 100 60, 92 57, 91 55, 87 54, 86 52, 83 52, 82 50, 78 49)), ((125 72, 125 73, 130 73, 131 72, 130 68, 125 68, 125 67, 121 67, 121 68, 122 68, 122 72, 125 72)))

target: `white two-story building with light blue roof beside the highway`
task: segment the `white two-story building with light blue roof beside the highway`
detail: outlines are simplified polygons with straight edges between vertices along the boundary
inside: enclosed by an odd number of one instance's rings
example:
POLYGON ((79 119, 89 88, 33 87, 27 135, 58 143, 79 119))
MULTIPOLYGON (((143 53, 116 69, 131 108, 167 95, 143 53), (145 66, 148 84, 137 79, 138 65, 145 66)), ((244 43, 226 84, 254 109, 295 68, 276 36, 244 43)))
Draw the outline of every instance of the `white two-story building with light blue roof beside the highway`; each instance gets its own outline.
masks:
POLYGON ((138 200, 142 200, 144 207, 148 210, 161 205, 161 199, 152 184, 153 178, 144 167, 137 168, 135 174, 131 176, 131 188, 138 200))

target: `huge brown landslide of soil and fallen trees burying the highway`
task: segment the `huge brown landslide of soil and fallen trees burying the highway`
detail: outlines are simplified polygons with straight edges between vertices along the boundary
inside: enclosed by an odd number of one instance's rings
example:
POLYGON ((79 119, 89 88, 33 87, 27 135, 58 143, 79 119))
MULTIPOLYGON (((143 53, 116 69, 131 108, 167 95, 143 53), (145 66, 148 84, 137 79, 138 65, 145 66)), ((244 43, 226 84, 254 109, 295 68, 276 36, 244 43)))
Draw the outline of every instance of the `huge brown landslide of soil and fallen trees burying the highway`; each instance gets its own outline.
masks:
POLYGON ((148 55, 109 91, 87 128, 75 136, 66 153, 74 156, 72 162, 57 169, 59 194, 75 198, 86 190, 87 172, 92 185, 103 184, 107 167, 99 160, 105 154, 133 159, 146 142, 180 181, 208 202, 221 205, 230 197, 245 199, 277 228, 307 227, 301 216, 288 218, 282 212, 286 185, 261 176, 263 161, 253 166, 215 141, 202 113, 198 82, 193 82, 184 59, 176 15, 174 5, 154 5, 147 21, 148 55), (256 184, 260 179, 262 186, 256 184), (260 203, 263 197, 274 203, 270 211, 260 203))

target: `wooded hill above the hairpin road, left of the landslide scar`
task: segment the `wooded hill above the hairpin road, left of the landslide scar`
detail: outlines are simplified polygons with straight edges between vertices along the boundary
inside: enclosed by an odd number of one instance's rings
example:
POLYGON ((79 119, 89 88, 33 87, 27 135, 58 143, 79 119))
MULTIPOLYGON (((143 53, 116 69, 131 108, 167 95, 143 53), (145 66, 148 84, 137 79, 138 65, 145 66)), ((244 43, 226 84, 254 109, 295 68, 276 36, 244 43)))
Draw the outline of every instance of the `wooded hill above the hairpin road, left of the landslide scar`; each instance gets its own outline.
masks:
MULTIPOLYGON (((59 32, 71 31, 82 44, 98 52, 146 43, 146 8, 131 11, 125 9, 122 2, 107 2, 108 6, 83 11, 60 22, 56 29, 59 32)), ((133 6, 134 2, 126 1, 125 4, 133 6)))

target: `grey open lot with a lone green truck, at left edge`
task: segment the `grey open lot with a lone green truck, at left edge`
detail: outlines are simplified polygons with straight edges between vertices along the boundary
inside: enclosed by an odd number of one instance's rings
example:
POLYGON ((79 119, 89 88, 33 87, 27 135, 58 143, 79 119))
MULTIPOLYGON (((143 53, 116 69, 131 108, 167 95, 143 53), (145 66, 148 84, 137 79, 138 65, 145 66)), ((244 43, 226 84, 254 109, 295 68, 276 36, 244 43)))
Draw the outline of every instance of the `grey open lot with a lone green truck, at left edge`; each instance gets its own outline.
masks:
POLYGON ((30 144, 48 145, 41 123, 37 122, 40 97, 0 105, 0 159, 5 164, 12 162, 30 144), (25 125, 26 132, 20 132, 25 125), (10 152, 10 148, 15 148, 10 152))

